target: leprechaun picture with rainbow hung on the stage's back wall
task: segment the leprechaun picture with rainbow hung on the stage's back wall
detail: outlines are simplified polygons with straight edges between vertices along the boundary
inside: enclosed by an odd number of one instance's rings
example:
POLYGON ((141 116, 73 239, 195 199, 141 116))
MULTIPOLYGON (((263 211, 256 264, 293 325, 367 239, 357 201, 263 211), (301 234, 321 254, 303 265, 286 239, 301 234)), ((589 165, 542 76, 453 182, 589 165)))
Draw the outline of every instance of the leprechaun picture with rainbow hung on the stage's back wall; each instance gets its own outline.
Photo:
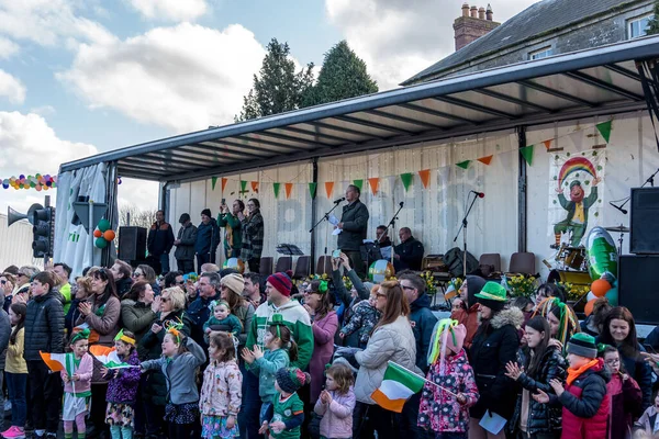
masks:
MULTIPOLYGON (((556 165, 560 166, 560 171, 555 179, 558 180, 558 187, 555 191, 558 194, 554 200, 554 205, 562 207, 562 219, 554 224, 554 235, 556 241, 551 247, 560 247, 563 235, 568 234, 569 245, 578 247, 581 245, 581 239, 587 233, 590 211, 600 204, 597 195, 597 184, 602 178, 597 176, 597 169, 602 170, 601 166, 595 166, 585 155, 567 158, 560 160, 560 156, 556 157, 556 165), (562 164, 561 164, 562 161, 562 164), (568 195, 566 196, 566 192, 568 195), (568 199, 569 198, 569 199, 568 199)), ((593 161, 600 161, 600 157, 595 153, 593 161)))

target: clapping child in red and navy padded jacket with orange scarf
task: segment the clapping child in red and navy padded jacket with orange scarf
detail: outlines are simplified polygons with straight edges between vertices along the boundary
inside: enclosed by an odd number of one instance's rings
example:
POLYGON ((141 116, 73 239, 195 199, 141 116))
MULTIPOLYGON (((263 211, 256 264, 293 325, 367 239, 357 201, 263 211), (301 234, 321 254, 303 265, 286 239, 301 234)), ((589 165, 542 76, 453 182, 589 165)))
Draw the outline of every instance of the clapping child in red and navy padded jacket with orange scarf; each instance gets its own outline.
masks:
POLYGON ((538 390, 534 399, 543 404, 562 405, 562 436, 565 439, 602 439, 608 437, 610 398, 606 395, 608 372, 604 360, 597 358, 595 339, 578 333, 568 341, 567 385, 558 380, 549 384, 556 395, 538 390))

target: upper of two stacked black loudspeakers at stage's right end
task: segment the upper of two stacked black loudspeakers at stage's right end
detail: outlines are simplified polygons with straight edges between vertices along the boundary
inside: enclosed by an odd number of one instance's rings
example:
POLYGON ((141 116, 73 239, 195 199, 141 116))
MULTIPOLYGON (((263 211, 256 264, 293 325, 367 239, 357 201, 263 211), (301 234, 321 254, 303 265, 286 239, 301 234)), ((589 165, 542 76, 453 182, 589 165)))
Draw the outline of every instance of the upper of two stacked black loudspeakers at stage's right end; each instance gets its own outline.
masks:
POLYGON ((629 252, 659 255, 659 188, 632 189, 629 252))

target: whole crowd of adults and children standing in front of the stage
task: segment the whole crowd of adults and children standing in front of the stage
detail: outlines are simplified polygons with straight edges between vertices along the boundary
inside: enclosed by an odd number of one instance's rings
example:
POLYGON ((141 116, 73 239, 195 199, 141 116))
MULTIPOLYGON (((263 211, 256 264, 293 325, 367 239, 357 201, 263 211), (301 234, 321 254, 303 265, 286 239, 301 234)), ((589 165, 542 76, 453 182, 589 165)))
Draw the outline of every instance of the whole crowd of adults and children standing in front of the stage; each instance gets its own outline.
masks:
POLYGON ((65 263, 7 268, 0 376, 11 421, 2 436, 56 437, 60 420, 65 438, 625 439, 659 430, 659 358, 645 352, 632 314, 605 299, 580 323, 555 284, 535 301, 511 301, 500 283, 469 275, 450 318, 438 319, 418 274, 365 282, 346 254, 328 280, 302 283, 212 263, 201 271, 156 278, 116 260, 71 284, 65 263), (114 348, 120 364, 96 346, 114 348), (53 373, 44 352, 69 360, 53 373), (400 413, 375 396, 391 363, 426 380, 400 413))

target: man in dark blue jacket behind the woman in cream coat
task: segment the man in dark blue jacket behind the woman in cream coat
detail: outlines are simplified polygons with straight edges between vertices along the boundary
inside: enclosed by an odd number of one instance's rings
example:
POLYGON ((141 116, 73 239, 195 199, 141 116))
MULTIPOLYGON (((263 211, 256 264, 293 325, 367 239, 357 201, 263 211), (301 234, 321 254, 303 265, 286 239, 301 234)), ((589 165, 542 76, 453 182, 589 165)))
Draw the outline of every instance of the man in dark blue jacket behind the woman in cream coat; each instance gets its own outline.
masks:
MULTIPOLYGON (((437 317, 431 311, 431 297, 425 293, 426 284, 420 275, 403 272, 399 274, 398 279, 410 304, 410 323, 416 339, 416 367, 423 371, 425 376, 428 371, 428 348, 437 317)), ((410 432, 413 438, 426 437, 425 431, 416 425, 420 403, 421 392, 412 395, 403 406, 399 423, 401 437, 409 437, 410 432)))

